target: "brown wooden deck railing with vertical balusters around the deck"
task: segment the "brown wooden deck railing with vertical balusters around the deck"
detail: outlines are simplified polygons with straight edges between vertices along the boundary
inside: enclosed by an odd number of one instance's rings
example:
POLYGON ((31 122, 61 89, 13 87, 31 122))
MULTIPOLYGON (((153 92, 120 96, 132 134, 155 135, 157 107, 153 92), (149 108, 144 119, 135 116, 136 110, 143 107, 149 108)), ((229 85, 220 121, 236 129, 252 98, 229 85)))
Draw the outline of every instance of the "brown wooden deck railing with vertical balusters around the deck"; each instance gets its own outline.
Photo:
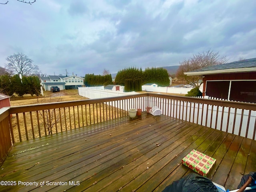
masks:
POLYGON ((129 108, 145 111, 147 106, 157 106, 167 116, 255 139, 256 104, 145 93, 1 109, 0 163, 15 142, 128 116, 129 108))

